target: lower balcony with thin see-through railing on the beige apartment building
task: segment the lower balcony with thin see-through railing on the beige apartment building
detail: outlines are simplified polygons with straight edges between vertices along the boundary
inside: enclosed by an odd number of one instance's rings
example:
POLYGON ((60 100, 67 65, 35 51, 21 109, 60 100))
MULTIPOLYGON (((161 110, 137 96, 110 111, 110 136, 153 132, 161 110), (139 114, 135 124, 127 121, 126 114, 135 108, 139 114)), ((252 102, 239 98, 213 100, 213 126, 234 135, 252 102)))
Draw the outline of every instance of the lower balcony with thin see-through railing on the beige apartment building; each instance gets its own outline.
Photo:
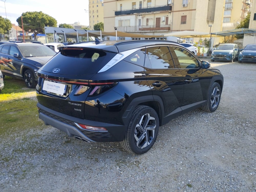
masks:
POLYGON ((116 27, 122 32, 152 32, 152 31, 170 31, 171 25, 142 25, 142 26, 123 26, 116 27))

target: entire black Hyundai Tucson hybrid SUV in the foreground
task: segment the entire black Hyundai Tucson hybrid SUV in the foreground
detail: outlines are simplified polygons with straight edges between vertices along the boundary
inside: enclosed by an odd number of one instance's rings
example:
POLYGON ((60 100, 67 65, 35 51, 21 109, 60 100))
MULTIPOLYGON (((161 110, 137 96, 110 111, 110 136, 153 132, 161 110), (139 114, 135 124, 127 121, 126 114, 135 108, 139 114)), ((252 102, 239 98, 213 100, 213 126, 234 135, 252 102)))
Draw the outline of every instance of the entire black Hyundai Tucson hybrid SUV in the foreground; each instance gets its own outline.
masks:
POLYGON ((178 43, 161 40, 63 46, 38 72, 39 118, 86 142, 121 142, 135 154, 159 126, 201 107, 214 112, 223 76, 178 43))

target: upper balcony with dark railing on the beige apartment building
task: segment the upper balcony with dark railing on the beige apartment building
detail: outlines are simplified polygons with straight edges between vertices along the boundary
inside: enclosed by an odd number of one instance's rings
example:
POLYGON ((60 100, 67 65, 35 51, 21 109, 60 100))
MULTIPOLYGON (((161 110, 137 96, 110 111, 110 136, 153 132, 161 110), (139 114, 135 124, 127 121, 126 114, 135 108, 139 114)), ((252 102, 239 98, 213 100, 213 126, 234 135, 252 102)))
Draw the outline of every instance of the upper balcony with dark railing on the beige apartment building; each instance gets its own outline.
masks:
POLYGON ((171 11, 171 5, 157 6, 157 7, 146 7, 146 8, 137 8, 137 9, 126 9, 121 11, 115 11, 115 16, 118 15, 130 15, 130 14, 141 14, 141 13, 150 13, 156 11, 171 11))

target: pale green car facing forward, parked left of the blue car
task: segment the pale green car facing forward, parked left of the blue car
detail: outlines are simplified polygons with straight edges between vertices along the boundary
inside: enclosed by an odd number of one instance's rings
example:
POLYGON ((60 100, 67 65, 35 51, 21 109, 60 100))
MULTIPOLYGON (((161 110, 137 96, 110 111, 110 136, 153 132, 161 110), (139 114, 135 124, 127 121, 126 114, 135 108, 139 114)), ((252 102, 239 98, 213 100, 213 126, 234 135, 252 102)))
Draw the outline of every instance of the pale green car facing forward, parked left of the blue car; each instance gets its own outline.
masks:
POLYGON ((234 59, 238 59, 239 47, 234 43, 224 43, 220 44, 211 53, 211 61, 229 61, 233 62, 234 59))

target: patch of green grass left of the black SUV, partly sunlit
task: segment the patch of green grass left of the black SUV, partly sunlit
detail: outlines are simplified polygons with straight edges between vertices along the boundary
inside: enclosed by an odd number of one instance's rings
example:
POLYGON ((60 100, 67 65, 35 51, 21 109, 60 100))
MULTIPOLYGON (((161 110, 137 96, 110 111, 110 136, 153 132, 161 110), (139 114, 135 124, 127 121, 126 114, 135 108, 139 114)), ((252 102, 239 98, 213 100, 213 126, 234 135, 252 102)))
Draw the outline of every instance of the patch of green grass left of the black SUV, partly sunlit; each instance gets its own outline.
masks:
POLYGON ((0 135, 44 125, 38 118, 35 95, 35 89, 27 88, 23 80, 5 76, 0 93, 0 135))

